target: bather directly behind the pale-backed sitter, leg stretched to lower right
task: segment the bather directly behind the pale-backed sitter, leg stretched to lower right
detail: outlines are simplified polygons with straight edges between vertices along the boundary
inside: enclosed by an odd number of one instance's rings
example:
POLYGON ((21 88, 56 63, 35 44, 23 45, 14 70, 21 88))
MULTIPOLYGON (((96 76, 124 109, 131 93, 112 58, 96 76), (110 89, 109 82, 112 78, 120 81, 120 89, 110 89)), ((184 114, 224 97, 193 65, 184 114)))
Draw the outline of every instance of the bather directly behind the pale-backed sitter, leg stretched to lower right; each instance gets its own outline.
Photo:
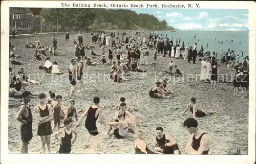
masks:
POLYGON ((125 103, 121 103, 120 107, 119 107, 119 110, 116 111, 116 113, 114 115, 114 120, 115 120, 115 122, 119 122, 118 114, 122 114, 123 120, 125 120, 128 123, 128 127, 133 132, 138 134, 139 130, 138 130, 137 125, 136 125, 136 117, 135 117, 135 115, 133 115, 130 111, 127 111, 126 109, 127 109, 126 104, 125 103), (126 115, 129 117, 128 119, 127 118, 125 119, 126 115))

